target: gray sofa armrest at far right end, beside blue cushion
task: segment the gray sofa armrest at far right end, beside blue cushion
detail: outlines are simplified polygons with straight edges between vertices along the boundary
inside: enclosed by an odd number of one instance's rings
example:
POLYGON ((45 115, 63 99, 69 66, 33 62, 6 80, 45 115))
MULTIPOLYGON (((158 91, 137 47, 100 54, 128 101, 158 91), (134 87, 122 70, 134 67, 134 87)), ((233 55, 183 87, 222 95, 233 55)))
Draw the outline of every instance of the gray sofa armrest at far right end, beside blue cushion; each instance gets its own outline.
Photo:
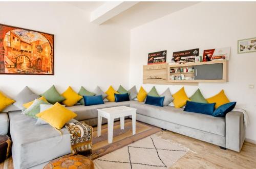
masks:
POLYGON ((240 152, 244 139, 244 114, 238 111, 230 111, 226 114, 226 148, 240 152))

